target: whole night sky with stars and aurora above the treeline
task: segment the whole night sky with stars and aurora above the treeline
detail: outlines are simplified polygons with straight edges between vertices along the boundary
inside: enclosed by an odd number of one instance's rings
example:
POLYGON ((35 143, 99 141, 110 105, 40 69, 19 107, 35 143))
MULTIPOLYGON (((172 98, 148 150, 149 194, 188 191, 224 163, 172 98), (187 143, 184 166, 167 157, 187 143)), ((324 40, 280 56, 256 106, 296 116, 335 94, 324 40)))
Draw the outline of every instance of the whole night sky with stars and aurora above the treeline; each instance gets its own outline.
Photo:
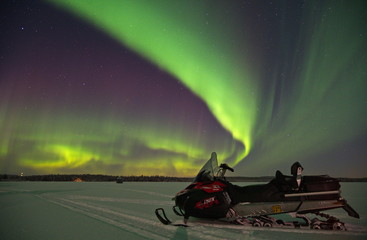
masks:
POLYGON ((364 0, 0 5, 0 173, 367 176, 364 0))

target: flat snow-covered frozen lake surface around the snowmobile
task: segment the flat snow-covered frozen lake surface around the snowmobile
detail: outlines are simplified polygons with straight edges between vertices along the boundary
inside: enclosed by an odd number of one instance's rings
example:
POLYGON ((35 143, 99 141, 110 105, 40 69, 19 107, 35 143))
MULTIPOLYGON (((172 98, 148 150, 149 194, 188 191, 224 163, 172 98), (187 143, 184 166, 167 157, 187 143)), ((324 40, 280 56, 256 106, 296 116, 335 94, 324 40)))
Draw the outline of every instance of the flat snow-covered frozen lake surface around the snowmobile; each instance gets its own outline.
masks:
POLYGON ((191 218, 189 228, 161 224, 154 210, 165 208, 178 221, 171 198, 188 184, 0 182, 0 239, 367 239, 367 183, 342 183, 361 219, 327 211, 346 223, 346 232, 195 225, 191 218))

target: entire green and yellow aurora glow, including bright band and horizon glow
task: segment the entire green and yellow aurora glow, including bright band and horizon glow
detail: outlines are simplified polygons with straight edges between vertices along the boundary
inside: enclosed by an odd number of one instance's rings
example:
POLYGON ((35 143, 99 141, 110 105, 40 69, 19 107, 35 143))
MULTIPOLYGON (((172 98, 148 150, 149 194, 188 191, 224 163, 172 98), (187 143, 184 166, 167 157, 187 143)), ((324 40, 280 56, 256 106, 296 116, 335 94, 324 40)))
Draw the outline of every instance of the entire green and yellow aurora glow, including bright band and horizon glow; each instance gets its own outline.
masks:
MULTIPOLYGON (((10 90, 1 91, 1 169, 192 176, 217 151, 220 161, 237 165, 236 174, 272 174, 295 160, 317 166, 317 156, 366 134, 364 1, 300 2, 299 21, 284 10, 272 30, 252 24, 252 8, 237 11, 239 4, 226 1, 47 2, 180 81, 220 130, 185 121, 196 114, 189 107, 172 117, 153 103, 140 111, 136 105, 105 108, 81 100, 80 112, 63 96, 24 111, 12 103, 20 87, 11 82, 11 72, 3 73, 8 81, 1 84, 10 90), (264 47, 261 31, 276 32, 272 46, 264 47), (101 115, 108 116, 103 124, 101 115)), ((25 95, 22 101, 31 100, 25 95)), ((351 169, 358 171, 363 157, 354 156, 351 169)), ((336 173, 347 162, 338 161, 336 173)))

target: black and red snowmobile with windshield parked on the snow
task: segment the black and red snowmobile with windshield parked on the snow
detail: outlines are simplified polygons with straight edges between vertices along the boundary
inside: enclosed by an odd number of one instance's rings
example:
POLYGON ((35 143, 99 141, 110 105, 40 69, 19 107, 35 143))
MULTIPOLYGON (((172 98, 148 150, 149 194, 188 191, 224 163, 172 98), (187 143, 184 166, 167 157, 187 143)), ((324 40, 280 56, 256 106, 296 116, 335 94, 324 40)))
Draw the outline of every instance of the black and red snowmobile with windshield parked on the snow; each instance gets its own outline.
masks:
POLYGON ((321 211, 342 208, 349 216, 359 214, 341 197, 339 180, 328 175, 302 176, 303 167, 296 162, 291 175, 276 171, 267 184, 240 187, 226 180, 226 171, 234 171, 227 164, 218 166, 217 155, 201 168, 193 183, 173 198, 175 214, 184 218, 183 224, 173 224, 163 208, 155 213, 163 224, 187 226, 189 217, 217 219, 255 227, 307 227, 311 229, 346 230, 336 217, 321 211), (291 220, 277 216, 288 214, 291 220), (317 217, 310 219, 306 214, 317 217))

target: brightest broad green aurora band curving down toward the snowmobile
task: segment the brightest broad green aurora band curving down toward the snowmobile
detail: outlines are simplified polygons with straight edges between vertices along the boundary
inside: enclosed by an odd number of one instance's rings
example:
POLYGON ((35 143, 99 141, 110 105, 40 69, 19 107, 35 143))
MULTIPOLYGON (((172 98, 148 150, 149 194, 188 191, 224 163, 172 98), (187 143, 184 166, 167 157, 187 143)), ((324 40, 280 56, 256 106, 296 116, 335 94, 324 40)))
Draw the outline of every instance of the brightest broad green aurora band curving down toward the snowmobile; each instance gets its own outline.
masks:
MULTIPOLYGON (((219 31, 202 27, 207 3, 197 1, 52 2, 90 21, 177 77, 243 143, 245 151, 236 163, 249 153, 259 89, 255 73, 247 69, 249 57, 228 46, 226 39, 237 36, 235 29, 225 27, 231 28, 234 23, 228 20, 219 31), (242 102, 245 106, 233 104, 242 102)), ((219 24, 217 19, 207 21, 219 24)))

